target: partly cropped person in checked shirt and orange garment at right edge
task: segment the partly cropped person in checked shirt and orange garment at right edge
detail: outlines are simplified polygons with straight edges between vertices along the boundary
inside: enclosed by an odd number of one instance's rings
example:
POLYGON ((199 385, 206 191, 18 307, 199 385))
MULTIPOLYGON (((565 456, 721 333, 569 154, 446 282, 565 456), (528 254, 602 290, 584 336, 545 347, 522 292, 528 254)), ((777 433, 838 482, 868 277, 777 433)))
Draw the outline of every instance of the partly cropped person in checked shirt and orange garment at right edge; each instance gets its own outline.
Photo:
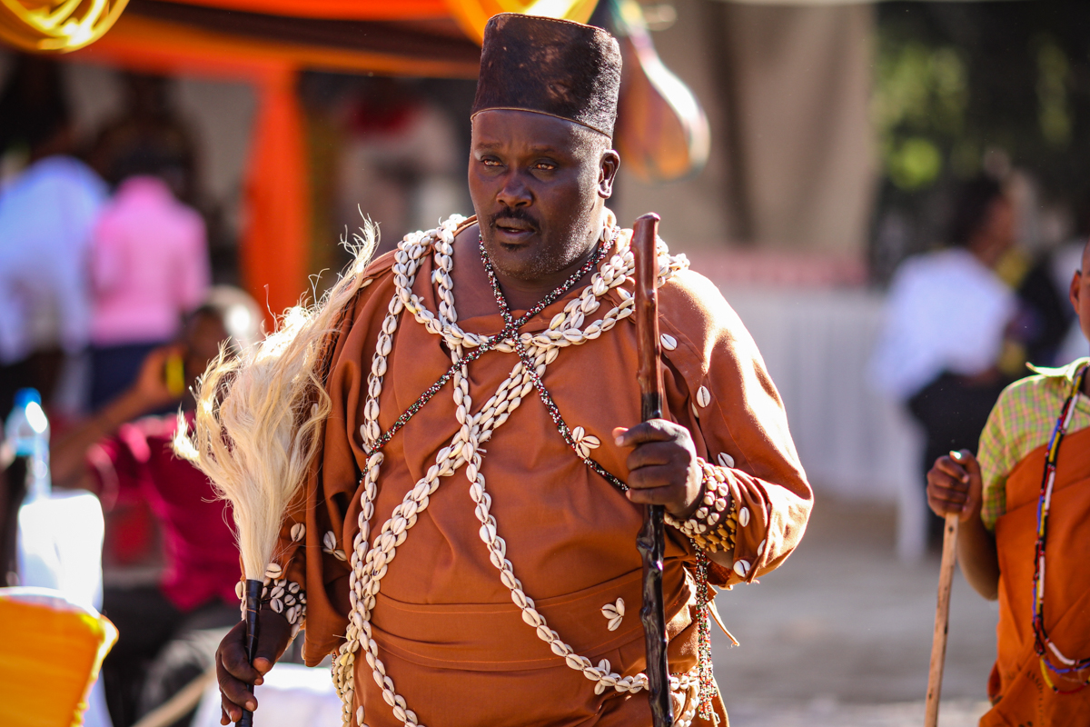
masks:
MULTIPOLYGON (((1090 338, 1090 244, 1070 284, 1090 338)), ((1090 359, 1007 387, 980 451, 941 457, 928 500, 961 516, 958 560, 1000 602, 981 727, 1085 725, 1090 714, 1090 359), (1047 567, 1046 567, 1047 565, 1047 567)))

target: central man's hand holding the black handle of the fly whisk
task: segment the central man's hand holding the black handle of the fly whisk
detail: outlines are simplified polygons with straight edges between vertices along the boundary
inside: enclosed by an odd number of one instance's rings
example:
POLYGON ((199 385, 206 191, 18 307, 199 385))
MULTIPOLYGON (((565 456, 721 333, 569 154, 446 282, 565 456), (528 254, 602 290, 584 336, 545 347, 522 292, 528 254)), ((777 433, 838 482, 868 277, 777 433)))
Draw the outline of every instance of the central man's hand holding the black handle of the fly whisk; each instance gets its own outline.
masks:
POLYGON ((253 712, 257 699, 246 689, 259 684, 291 642, 291 625, 280 614, 263 608, 257 631, 257 655, 254 663, 246 659, 246 622, 239 621, 228 631, 216 650, 216 680, 219 682, 222 714, 219 724, 229 725, 242 719, 242 710, 253 712))

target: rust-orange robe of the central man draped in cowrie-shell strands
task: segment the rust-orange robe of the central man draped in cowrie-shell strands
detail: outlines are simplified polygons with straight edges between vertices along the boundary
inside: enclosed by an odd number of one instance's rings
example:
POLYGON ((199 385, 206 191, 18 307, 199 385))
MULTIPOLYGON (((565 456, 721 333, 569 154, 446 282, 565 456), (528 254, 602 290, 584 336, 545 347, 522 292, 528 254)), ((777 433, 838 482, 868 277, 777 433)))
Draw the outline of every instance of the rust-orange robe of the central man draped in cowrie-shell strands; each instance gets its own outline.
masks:
MULTIPOLYGON (((456 276, 460 265, 480 265, 480 258, 467 259, 476 254, 475 237, 463 240, 467 237, 460 234, 456 242, 456 276)), ((279 557, 288 578, 305 584, 307 593, 304 652, 312 665, 344 639, 349 566, 323 541, 331 532, 337 548, 351 553, 359 532, 358 483, 366 461, 359 429, 376 338, 395 294, 391 265, 392 258, 384 256, 368 267, 365 275, 373 282, 344 316, 327 379, 332 413, 319 467, 307 484, 305 505, 289 514, 283 529, 279 557), (305 522, 305 554, 288 537, 294 522, 305 522)), ((432 258, 426 257, 413 291, 435 312, 433 269, 432 258)), ((585 284, 576 286, 521 330, 547 329, 553 316, 585 284)), ((486 286, 471 294, 492 300, 486 286)), ((617 291, 609 290, 588 323, 620 301, 617 291)), ((731 492, 751 513, 747 526, 739 529, 737 567, 713 566, 711 580, 720 585, 751 581, 795 548, 812 502, 783 404, 752 339, 711 282, 694 272, 679 272, 659 290, 659 305, 662 331, 677 340, 675 350, 664 352, 668 415, 690 429, 698 453, 708 462, 720 461, 722 455, 726 456, 722 461, 732 460, 731 492), (702 387, 706 399, 698 397, 702 387)), ((502 328, 495 310, 492 315, 459 316, 459 325, 467 331, 495 334, 502 328)), ((516 362, 514 353, 492 351, 469 365, 474 411, 516 362)), ((443 339, 403 312, 379 398, 383 431, 449 366, 443 339)), ((628 475, 628 450, 614 445, 611 431, 640 421, 635 369, 635 327, 621 320, 596 340, 561 349, 544 376, 568 426, 582 426, 596 436, 602 445, 592 456, 621 480, 628 475)), ((373 536, 459 426, 448 384, 386 446, 371 521, 373 536)), ((645 654, 635 535, 642 508, 577 459, 535 391, 523 397, 484 449, 482 472, 493 498, 492 513, 526 595, 577 653, 594 663, 608 659, 622 676, 641 671, 645 654), (627 604, 627 613, 610 631, 602 607, 617 598, 627 604)), ((382 580, 371 621, 374 639, 387 674, 421 724, 650 725, 645 692, 621 694, 609 689, 595 694, 594 684, 523 622, 489 562, 479 529, 462 468, 443 480, 382 580)), ((695 558, 688 538, 667 531, 669 661, 671 673, 678 674, 697 663, 694 619, 700 616, 694 613, 694 583, 689 575, 695 558)), ((363 658, 355 661, 354 683, 367 725, 400 724, 363 658)), ((725 725, 722 702, 716 703, 725 725)), ((353 705, 353 715, 355 710, 353 705)))

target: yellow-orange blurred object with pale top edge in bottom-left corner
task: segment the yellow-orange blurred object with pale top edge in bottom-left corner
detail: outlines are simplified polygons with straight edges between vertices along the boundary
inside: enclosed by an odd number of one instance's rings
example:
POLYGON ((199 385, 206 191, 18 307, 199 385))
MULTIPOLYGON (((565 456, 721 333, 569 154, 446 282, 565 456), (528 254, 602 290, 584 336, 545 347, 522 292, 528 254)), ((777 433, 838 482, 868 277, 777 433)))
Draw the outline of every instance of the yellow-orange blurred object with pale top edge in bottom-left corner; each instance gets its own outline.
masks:
POLYGON ((78 727, 102 658, 109 619, 50 589, 0 589, 0 724, 78 727))

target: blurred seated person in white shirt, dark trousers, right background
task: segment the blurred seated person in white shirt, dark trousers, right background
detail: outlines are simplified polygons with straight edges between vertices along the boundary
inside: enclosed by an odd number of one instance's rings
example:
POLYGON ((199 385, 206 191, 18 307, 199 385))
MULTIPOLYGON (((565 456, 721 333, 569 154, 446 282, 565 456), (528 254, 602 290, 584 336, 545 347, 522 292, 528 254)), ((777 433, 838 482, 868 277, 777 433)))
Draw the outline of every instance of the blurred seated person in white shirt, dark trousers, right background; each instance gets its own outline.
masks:
MULTIPOLYGON (((1003 185, 979 177, 956 194, 948 246, 910 257, 894 275, 872 380, 922 425, 922 472, 952 449, 976 451, 1000 392, 1024 373, 1018 295, 996 272, 1015 230, 1003 185)), ((929 519, 933 544, 941 524, 929 519)))

